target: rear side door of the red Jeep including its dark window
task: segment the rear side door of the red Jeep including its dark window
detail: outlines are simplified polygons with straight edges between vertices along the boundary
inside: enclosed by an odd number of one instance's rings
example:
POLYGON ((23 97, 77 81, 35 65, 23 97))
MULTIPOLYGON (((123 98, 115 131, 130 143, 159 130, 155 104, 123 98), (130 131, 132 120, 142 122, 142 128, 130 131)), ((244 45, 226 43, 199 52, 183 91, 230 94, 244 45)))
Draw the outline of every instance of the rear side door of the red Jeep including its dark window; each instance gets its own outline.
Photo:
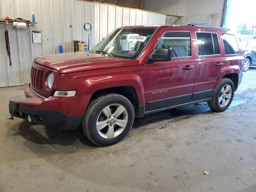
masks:
POLYGON ((211 98, 218 74, 225 59, 220 46, 220 34, 210 30, 195 31, 196 36, 196 80, 191 101, 211 98))

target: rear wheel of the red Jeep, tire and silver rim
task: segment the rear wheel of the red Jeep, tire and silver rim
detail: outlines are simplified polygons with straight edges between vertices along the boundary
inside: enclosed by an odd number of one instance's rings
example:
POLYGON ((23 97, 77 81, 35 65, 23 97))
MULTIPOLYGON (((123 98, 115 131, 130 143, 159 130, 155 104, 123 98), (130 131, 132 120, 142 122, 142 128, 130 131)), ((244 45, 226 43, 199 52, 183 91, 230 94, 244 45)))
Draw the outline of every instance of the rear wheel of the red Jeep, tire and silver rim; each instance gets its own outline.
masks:
POLYGON ((212 100, 208 102, 208 106, 210 107, 211 110, 216 112, 225 111, 230 106, 233 100, 234 92, 235 92, 235 87, 232 80, 228 78, 222 79, 218 90, 215 91, 212 97, 212 100), (229 88, 229 89, 226 89, 226 88, 229 88))

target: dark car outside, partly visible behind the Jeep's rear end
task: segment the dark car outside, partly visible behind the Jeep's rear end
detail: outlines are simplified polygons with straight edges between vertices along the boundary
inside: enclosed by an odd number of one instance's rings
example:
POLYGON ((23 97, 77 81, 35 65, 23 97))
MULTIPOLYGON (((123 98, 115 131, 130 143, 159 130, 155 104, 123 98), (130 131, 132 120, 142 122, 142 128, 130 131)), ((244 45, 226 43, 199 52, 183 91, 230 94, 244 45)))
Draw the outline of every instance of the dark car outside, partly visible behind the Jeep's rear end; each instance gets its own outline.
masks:
POLYGON ((256 66, 256 39, 244 38, 241 40, 244 56, 244 69, 247 71, 250 66, 256 66))

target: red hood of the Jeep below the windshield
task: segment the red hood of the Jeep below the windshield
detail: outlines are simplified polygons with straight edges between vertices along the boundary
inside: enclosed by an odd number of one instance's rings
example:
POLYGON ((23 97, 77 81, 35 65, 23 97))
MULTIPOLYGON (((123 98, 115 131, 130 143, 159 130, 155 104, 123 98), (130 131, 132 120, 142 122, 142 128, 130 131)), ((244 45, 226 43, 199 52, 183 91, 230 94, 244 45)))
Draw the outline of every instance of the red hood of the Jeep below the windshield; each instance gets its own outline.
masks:
POLYGON ((139 60, 117 58, 89 52, 52 54, 34 58, 34 62, 52 68, 58 71, 59 74, 139 64, 139 60))

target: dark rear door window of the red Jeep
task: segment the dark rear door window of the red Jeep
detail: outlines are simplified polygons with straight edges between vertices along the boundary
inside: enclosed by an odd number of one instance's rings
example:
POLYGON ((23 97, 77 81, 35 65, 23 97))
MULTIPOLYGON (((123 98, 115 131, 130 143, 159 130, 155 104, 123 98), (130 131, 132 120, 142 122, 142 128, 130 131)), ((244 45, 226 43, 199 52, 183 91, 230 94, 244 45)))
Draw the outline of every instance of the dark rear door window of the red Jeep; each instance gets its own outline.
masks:
POLYGON ((196 33, 198 55, 220 54, 220 46, 216 33, 196 33))

